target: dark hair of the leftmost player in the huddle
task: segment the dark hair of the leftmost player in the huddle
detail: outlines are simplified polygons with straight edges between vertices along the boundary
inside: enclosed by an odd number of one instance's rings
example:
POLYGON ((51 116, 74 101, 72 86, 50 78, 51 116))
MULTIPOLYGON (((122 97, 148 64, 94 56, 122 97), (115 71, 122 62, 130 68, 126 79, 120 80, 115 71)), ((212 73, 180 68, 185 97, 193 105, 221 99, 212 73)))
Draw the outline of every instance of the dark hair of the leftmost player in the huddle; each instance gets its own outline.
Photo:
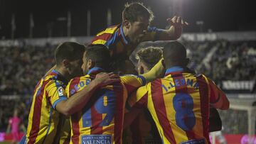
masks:
POLYGON ((61 65, 63 60, 73 61, 82 59, 83 52, 85 52, 85 45, 75 42, 61 43, 54 52, 57 67, 61 65))

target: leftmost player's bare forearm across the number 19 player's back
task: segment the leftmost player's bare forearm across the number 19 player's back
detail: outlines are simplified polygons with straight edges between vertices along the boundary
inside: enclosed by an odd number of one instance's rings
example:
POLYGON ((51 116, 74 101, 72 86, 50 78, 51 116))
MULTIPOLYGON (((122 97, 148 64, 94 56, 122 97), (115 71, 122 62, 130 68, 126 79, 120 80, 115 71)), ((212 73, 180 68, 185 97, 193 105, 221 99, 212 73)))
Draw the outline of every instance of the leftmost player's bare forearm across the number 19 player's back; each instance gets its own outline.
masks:
POLYGON ((85 89, 82 89, 80 92, 77 92, 71 96, 67 101, 65 101, 65 115, 68 116, 77 111, 80 111, 90 100, 91 96, 95 90, 99 87, 100 84, 97 81, 90 82, 85 89))

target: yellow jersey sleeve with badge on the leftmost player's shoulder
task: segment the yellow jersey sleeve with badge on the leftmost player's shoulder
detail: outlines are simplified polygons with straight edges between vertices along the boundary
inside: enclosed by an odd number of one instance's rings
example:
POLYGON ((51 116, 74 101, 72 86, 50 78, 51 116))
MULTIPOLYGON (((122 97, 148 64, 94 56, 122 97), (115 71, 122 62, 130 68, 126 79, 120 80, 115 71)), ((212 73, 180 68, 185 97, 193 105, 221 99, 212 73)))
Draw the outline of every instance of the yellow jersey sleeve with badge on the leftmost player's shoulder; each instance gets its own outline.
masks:
POLYGON ((50 104, 55 109, 55 106, 63 100, 67 99, 65 94, 65 87, 61 84, 59 80, 50 80, 46 86, 46 96, 50 101, 50 104))

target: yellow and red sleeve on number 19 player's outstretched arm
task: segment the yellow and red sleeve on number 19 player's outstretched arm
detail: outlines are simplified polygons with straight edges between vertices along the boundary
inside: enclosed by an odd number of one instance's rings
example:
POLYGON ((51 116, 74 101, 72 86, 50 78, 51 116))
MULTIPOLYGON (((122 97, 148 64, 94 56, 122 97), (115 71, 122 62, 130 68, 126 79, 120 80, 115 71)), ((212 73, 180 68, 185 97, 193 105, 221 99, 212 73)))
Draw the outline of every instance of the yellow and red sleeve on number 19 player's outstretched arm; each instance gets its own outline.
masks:
POLYGON ((135 89, 146 84, 146 79, 142 75, 124 75, 121 77, 121 82, 127 89, 128 94, 134 92, 135 89))

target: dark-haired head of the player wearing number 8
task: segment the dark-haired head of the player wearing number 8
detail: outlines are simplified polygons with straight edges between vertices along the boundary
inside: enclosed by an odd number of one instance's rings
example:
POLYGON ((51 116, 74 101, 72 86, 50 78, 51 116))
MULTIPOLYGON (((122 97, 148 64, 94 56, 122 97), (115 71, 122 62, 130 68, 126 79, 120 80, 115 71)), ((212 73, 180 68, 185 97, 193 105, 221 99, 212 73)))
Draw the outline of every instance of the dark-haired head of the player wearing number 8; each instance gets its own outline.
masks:
POLYGON ((163 57, 166 67, 179 65, 186 67, 188 58, 186 58, 186 48, 178 41, 169 42, 164 45, 163 57))

